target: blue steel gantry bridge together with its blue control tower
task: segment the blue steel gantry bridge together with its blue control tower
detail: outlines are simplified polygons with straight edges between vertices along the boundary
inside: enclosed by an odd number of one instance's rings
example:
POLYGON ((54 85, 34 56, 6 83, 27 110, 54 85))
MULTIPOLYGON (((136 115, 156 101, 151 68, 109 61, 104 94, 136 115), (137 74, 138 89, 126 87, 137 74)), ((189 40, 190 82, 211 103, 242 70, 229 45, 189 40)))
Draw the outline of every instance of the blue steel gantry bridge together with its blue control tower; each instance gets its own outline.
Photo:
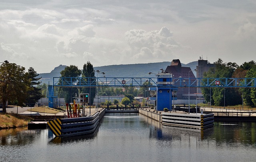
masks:
POLYGON ((54 107, 57 95, 54 87, 146 87, 153 92, 150 100, 156 101, 156 110, 172 109, 172 100, 180 87, 202 88, 256 88, 256 78, 173 78, 172 74, 159 73, 154 78, 108 77, 54 77, 48 84, 49 107, 54 107))

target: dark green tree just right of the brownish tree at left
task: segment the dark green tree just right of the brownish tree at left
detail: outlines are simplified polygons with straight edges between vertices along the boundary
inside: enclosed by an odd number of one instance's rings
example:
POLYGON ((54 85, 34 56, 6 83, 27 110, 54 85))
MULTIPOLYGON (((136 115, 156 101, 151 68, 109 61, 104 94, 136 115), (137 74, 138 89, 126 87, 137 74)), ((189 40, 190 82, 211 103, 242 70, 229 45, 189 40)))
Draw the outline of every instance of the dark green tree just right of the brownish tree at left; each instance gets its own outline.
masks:
POLYGON ((36 73, 34 68, 30 67, 26 76, 30 80, 30 90, 28 91, 28 97, 26 98, 26 103, 30 104, 30 107, 34 107, 36 102, 42 97, 41 88, 38 88, 38 85, 41 78, 36 78, 39 74, 36 73))

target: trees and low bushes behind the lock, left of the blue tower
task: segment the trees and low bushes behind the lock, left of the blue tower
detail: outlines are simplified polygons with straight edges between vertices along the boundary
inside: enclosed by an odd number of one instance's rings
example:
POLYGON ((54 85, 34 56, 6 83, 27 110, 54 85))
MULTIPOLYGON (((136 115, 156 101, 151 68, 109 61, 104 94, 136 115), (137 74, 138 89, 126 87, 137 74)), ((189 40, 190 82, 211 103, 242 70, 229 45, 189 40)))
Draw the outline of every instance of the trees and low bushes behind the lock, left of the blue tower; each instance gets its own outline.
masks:
MULTIPOLYGON (((66 103, 71 103, 74 100, 74 96, 76 94, 90 94, 89 97, 89 105, 92 105, 94 103, 94 98, 96 96, 96 78, 95 74, 97 71, 94 70, 93 65, 88 61, 86 64, 84 64, 83 69, 79 70, 78 66, 70 65, 67 66, 64 70, 60 72, 61 77, 85 77, 88 78, 88 82, 91 83, 91 87, 84 87, 84 88, 77 88, 77 87, 61 87, 58 88, 58 96, 63 97, 66 103)), ((66 78, 66 81, 70 81, 70 78, 66 78)), ((61 80, 59 80, 59 83, 61 84, 61 80)), ((148 84, 145 82, 145 84, 148 84)), ((119 96, 124 95, 125 98, 123 98, 122 103, 129 104, 134 101, 134 96, 144 96, 144 93, 146 92, 146 87, 137 89, 134 87, 125 87, 125 88, 112 88, 112 87, 101 87, 98 86, 98 96, 119 96)), ((148 97, 148 94, 145 94, 145 97, 148 97)), ((115 101, 116 104, 116 101, 115 101)))

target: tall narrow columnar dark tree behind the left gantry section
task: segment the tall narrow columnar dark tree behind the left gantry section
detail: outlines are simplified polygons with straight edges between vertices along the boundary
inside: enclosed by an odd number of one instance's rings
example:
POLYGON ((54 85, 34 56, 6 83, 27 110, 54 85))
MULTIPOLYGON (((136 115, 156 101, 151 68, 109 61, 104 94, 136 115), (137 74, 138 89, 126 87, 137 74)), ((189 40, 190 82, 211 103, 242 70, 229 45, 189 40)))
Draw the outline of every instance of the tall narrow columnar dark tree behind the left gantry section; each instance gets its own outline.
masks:
POLYGON ((86 77, 89 79, 90 87, 82 88, 81 92, 82 93, 88 93, 90 94, 90 101, 89 105, 92 105, 94 102, 94 98, 96 96, 96 82, 95 82, 95 72, 93 69, 92 64, 90 61, 87 62, 87 64, 84 64, 83 66, 83 71, 82 71, 82 77, 86 77))

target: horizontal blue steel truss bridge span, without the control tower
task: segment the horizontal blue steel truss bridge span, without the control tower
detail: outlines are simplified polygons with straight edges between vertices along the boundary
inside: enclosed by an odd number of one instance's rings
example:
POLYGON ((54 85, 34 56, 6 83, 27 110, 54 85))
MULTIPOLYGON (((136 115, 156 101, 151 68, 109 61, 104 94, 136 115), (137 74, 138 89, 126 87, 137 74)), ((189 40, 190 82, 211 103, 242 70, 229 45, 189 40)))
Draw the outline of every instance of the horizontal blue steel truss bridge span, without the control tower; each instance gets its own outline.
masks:
POLYGON ((49 86, 53 87, 220 87, 256 88, 256 78, 170 78, 166 84, 159 84, 158 78, 84 78, 54 77, 49 86), (146 84, 145 84, 146 82, 146 84))

